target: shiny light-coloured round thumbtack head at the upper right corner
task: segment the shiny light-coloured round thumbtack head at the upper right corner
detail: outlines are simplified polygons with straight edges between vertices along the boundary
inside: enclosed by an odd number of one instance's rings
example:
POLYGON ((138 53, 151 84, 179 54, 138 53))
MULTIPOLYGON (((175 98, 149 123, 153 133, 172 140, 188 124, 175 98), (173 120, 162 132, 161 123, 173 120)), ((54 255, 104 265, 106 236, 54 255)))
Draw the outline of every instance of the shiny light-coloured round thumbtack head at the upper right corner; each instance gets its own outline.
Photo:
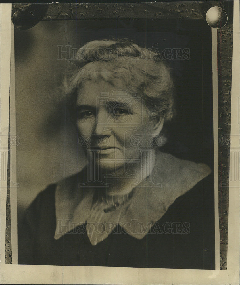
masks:
POLYGON ((210 27, 220 29, 226 25, 228 16, 224 9, 214 6, 207 11, 206 21, 210 27))

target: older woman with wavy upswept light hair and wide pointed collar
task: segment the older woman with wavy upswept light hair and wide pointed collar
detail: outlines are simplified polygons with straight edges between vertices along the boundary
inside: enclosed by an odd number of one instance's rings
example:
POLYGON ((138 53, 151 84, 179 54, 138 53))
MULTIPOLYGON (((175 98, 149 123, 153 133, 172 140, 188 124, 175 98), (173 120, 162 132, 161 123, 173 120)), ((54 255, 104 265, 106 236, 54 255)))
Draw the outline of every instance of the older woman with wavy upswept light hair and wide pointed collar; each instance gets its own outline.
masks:
POLYGON ((126 39, 88 42, 74 64, 64 95, 88 163, 30 205, 18 263, 214 269, 211 170, 159 150, 170 68, 126 39))

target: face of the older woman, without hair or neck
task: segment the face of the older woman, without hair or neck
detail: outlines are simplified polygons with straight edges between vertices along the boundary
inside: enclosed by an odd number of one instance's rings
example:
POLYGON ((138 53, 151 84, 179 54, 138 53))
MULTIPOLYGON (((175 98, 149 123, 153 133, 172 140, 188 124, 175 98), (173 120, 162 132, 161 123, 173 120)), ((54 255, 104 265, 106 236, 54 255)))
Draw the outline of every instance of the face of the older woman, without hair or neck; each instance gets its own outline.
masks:
POLYGON ((154 122, 143 100, 124 87, 104 80, 85 82, 78 89, 76 115, 80 142, 88 140, 85 152, 101 168, 117 170, 136 161, 140 150, 152 149, 154 122))

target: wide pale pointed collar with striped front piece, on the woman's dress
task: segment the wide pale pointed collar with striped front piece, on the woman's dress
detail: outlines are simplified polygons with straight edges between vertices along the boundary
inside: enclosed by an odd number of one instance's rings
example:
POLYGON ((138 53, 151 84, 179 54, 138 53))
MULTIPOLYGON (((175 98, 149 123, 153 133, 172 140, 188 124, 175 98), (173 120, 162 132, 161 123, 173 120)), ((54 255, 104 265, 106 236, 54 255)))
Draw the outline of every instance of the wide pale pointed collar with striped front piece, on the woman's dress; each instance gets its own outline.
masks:
POLYGON ((135 187, 132 197, 124 205, 106 213, 104 201, 93 202, 95 190, 86 187, 88 178, 84 168, 57 184, 57 227, 54 238, 59 239, 87 222, 87 234, 93 245, 105 239, 117 224, 129 235, 142 239, 176 198, 193 188, 210 172, 205 164, 158 152, 151 179, 135 187))

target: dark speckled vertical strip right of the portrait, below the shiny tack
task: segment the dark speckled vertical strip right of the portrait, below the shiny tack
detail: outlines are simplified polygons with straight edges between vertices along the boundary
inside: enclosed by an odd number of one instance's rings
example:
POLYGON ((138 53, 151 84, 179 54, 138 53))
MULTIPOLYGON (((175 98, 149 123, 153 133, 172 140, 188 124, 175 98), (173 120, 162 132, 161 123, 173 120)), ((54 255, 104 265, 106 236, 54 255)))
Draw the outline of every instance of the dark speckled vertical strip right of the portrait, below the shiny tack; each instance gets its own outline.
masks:
POLYGON ((231 82, 233 54, 233 1, 223 4, 221 7, 228 15, 228 23, 225 27, 218 30, 218 136, 220 138, 218 205, 220 229, 220 269, 227 269, 231 82))

